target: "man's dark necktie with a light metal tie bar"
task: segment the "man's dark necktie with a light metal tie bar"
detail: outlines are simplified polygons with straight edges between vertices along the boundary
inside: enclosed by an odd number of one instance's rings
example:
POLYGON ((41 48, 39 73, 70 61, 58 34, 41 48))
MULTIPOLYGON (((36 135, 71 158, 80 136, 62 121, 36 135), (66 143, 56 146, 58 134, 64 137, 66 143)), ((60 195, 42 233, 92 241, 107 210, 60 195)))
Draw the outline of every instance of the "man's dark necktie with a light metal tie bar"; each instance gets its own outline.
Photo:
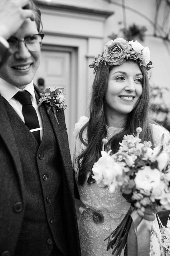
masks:
MULTIPOLYGON (((29 92, 18 92, 16 95, 14 95, 14 98, 22 104, 22 113, 24 116, 25 124, 29 130, 40 128, 37 113, 33 107, 31 95, 29 92)), ((40 145, 40 130, 34 131, 32 134, 40 145)))

